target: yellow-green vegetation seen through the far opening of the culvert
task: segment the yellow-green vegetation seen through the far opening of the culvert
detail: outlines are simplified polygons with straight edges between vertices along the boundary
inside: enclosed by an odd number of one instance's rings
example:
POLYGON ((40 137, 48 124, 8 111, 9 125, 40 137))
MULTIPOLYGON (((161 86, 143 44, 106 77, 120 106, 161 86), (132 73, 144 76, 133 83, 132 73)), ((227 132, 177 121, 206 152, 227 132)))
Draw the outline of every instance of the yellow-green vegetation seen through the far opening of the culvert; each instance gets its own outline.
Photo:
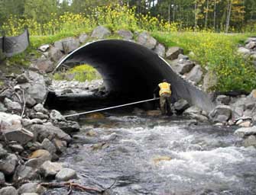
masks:
POLYGON ((78 82, 92 81, 101 78, 99 73, 92 66, 80 65, 66 72, 57 72, 53 75, 55 80, 75 80, 78 82))

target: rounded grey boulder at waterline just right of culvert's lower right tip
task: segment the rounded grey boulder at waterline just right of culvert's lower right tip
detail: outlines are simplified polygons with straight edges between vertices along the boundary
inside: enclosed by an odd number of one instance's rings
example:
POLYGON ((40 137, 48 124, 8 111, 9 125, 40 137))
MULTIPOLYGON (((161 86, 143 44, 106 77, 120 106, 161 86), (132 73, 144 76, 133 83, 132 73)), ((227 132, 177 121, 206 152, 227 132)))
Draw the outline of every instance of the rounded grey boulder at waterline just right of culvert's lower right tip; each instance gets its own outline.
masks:
POLYGON ((214 123, 227 122, 232 117, 232 109, 226 105, 219 105, 209 113, 209 118, 214 123))

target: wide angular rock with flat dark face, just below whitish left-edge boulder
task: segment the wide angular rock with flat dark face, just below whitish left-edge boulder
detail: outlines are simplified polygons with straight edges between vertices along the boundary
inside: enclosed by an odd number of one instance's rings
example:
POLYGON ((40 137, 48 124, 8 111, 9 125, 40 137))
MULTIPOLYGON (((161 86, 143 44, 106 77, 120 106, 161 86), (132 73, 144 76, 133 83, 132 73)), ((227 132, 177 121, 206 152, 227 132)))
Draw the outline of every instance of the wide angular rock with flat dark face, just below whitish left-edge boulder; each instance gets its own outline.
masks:
POLYGON ((5 138, 8 141, 16 141, 21 145, 24 145, 34 139, 34 134, 26 129, 21 130, 9 130, 4 133, 5 138))

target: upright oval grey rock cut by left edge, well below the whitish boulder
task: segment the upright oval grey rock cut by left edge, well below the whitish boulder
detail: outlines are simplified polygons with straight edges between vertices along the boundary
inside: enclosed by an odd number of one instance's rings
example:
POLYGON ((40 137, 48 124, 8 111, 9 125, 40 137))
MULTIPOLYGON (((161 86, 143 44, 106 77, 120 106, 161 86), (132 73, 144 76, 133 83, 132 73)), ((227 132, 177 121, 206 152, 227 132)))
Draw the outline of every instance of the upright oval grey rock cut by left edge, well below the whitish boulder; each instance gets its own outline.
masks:
POLYGON ((17 156, 13 154, 8 155, 5 159, 0 160, 0 171, 6 175, 11 175, 15 172, 16 165, 18 165, 17 156))

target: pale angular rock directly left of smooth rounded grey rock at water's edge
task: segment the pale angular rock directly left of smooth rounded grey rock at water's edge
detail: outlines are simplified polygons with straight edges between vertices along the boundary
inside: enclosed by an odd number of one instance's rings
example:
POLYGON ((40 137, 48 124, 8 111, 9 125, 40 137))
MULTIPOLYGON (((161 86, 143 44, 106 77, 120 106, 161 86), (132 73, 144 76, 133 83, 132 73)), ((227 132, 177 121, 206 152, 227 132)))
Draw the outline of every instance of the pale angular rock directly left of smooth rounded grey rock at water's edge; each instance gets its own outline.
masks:
POLYGON ((45 161, 39 171, 44 177, 54 177, 61 169, 63 167, 60 163, 45 161))

